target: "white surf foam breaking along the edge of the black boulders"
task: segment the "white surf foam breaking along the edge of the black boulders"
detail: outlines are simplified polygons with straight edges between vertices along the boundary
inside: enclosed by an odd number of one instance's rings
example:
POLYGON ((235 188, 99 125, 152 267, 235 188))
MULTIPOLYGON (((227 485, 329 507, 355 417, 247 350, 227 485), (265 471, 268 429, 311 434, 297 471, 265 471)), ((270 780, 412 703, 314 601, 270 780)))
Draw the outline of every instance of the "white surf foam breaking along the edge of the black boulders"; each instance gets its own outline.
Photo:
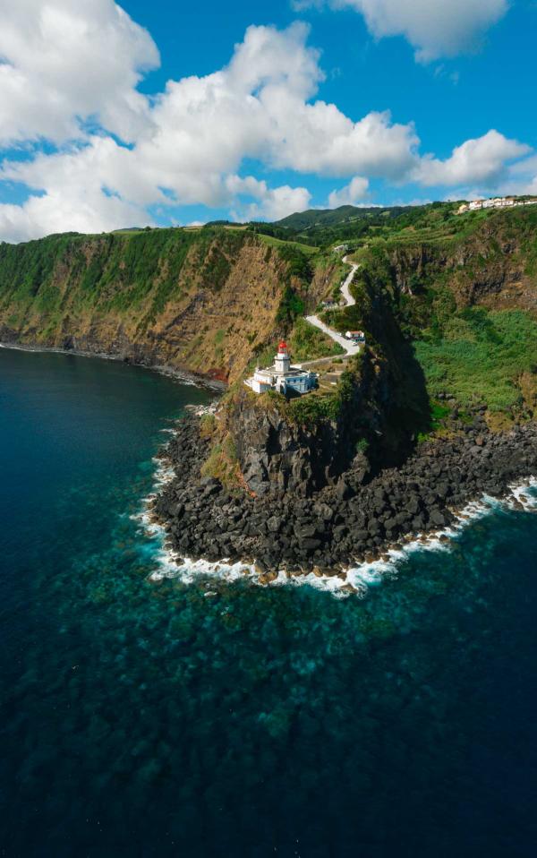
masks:
MULTIPOLYGON (((182 557, 174 551, 166 539, 165 528, 158 524, 150 513, 150 503, 156 497, 158 489, 173 478, 174 469, 166 460, 155 459, 155 461, 158 466, 155 475, 155 492, 144 499, 143 510, 135 517, 146 533, 160 542, 157 569, 150 575, 153 581, 179 579, 184 584, 192 584, 201 579, 217 579, 228 583, 247 579, 255 586, 303 587, 307 585, 336 598, 346 598, 351 595, 365 596, 371 587, 378 586, 388 575, 396 574, 397 567, 412 553, 449 551, 453 540, 464 528, 493 511, 503 509, 537 512, 537 478, 532 477, 522 483, 509 486, 509 493, 503 499, 485 495, 480 501, 468 503, 462 511, 456 513, 455 521, 448 528, 432 534, 418 534, 401 547, 388 549, 380 560, 351 565, 335 576, 316 575, 313 572, 289 576, 285 570, 279 570, 277 578, 269 584, 261 584, 254 563, 229 562, 226 559, 219 562, 195 561, 182 557)), ((213 591, 208 591, 206 595, 214 594, 213 591)))

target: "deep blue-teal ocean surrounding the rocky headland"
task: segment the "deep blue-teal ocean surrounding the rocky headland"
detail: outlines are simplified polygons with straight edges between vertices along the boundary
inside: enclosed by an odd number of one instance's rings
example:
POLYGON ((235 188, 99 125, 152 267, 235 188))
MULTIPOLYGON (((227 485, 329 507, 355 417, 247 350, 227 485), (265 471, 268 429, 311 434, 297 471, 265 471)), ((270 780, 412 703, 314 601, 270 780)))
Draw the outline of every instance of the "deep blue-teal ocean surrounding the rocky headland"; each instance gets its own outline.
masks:
POLYGON ((0 855, 537 854, 537 515, 367 596, 149 579, 133 515, 209 394, 0 349, 0 855))

